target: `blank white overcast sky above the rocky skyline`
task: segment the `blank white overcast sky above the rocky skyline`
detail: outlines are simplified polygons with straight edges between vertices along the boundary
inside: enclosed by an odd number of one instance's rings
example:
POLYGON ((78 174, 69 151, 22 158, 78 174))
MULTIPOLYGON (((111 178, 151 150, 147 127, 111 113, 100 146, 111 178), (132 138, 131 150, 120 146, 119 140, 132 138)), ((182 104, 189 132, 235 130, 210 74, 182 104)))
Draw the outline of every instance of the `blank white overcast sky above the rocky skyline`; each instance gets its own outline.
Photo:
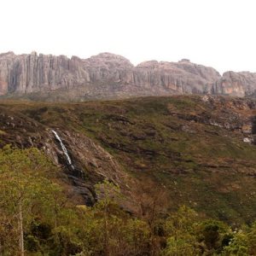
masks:
POLYGON ((0 0, 0 52, 256 72, 255 0, 0 0))

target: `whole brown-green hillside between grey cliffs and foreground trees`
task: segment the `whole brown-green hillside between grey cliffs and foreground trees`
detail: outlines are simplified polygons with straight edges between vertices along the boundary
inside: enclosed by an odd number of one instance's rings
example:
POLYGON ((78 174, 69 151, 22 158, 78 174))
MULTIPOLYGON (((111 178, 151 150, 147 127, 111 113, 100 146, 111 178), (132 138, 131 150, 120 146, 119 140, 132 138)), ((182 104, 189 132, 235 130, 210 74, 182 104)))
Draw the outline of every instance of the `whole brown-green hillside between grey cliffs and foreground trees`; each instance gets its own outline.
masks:
MULTIPOLYGON (((166 189, 168 207, 187 205, 230 224, 256 218, 256 102, 217 96, 125 101, 2 101, 0 144, 37 147, 62 166, 81 203, 94 184, 118 183, 137 211, 143 183, 166 189), (73 162, 67 164, 55 130, 73 162), (66 171, 65 171, 66 170, 66 171)), ((85 201, 84 201, 85 200, 85 201)))

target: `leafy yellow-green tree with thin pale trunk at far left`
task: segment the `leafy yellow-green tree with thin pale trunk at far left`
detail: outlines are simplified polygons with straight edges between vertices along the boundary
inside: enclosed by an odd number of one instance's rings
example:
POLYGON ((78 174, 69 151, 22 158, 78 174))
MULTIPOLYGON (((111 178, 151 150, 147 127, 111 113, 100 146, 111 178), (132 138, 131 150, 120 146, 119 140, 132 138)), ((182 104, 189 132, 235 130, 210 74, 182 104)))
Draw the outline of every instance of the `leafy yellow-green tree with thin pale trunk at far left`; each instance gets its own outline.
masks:
POLYGON ((60 190, 48 178, 52 172, 55 167, 37 148, 0 149, 0 211, 5 223, 9 223, 2 224, 1 229, 2 232, 9 229, 17 236, 17 242, 12 243, 8 236, 3 237, 3 248, 15 252, 18 247, 20 255, 24 255, 24 233, 35 218, 35 209, 44 207, 49 197, 60 190))

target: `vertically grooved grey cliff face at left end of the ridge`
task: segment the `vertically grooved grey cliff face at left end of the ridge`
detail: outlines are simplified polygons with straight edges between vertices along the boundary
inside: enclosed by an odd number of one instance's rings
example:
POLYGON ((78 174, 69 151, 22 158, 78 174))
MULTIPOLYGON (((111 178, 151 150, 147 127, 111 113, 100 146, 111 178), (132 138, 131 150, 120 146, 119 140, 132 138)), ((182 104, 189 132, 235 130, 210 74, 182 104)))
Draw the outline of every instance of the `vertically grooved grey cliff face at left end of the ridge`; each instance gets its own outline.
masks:
POLYGON ((0 93, 31 93, 83 84, 88 73, 81 61, 64 55, 0 55, 0 93))

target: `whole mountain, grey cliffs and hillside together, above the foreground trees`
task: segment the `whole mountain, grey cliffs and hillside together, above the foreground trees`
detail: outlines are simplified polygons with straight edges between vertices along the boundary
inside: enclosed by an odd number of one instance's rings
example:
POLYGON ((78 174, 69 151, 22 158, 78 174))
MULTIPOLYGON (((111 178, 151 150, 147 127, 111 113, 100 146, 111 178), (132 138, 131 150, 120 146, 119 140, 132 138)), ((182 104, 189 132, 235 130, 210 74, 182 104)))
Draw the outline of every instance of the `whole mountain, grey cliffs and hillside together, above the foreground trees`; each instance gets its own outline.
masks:
POLYGON ((153 183, 166 190, 170 211, 187 205, 251 223, 255 92, 256 73, 221 76, 185 59, 134 67, 109 53, 83 60, 9 52, 0 55, 1 97, 11 98, 0 102, 0 148, 40 149, 79 204, 94 205, 96 183, 108 180, 136 213, 140 188, 153 183), (114 100, 86 102, 93 99, 114 100))

